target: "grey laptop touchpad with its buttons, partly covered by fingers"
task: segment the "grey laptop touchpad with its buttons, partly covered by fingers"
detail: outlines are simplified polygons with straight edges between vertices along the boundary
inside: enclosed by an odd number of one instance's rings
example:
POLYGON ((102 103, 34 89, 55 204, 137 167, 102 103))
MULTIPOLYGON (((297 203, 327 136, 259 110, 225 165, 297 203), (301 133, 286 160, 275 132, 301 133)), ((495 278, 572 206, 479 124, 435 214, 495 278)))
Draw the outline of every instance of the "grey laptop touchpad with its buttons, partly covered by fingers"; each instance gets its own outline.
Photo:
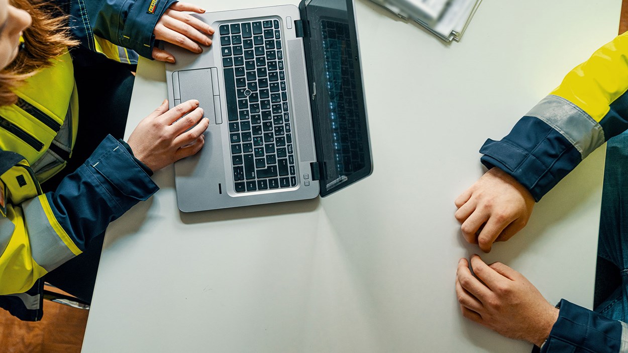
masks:
POLYGON ((198 70, 178 71, 181 102, 197 99, 205 112, 210 124, 221 124, 219 89, 217 87, 217 70, 201 68, 198 70), (212 71, 216 71, 212 75, 212 71), (216 84, 214 84, 214 81, 216 84), (216 87, 214 87, 216 86, 216 87), (215 88, 215 89, 214 89, 215 88))

